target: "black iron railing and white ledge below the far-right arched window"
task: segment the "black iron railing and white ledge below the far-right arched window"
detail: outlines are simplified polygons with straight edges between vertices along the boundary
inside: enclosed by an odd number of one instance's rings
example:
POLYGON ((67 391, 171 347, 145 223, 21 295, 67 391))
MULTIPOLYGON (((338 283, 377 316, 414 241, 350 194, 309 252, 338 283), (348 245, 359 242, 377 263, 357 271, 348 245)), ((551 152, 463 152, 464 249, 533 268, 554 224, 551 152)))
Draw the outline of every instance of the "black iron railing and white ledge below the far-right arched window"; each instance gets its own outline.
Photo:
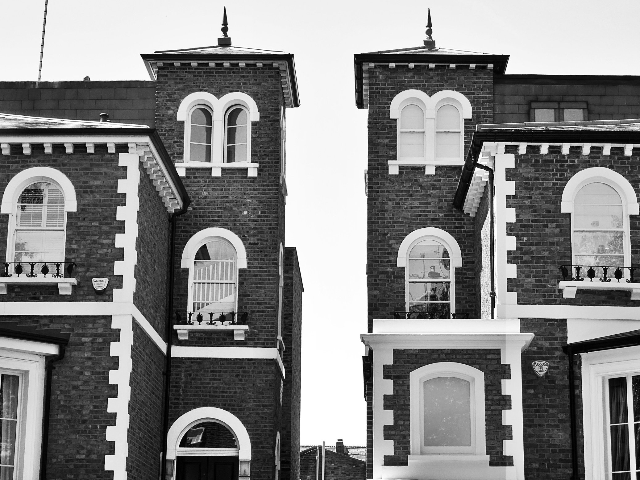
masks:
POLYGON ((559 270, 563 298, 575 298, 578 290, 614 290, 631 292, 631 300, 640 300, 640 278, 634 276, 640 267, 561 265, 559 270))

